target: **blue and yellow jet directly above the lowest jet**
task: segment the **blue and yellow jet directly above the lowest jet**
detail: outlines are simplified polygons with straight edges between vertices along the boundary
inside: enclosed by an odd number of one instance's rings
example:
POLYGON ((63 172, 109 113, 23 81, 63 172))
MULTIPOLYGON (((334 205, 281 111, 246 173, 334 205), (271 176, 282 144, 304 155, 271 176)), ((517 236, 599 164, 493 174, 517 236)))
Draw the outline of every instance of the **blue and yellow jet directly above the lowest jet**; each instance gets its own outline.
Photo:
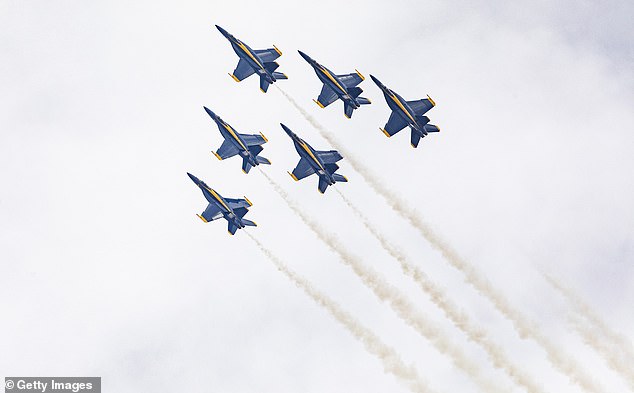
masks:
POLYGON ((267 158, 258 156, 258 154, 264 150, 261 145, 268 142, 268 139, 266 139, 264 134, 240 134, 222 120, 220 116, 213 113, 209 108, 206 106, 203 108, 205 108, 205 111, 207 111, 207 114, 213 119, 213 121, 216 122, 218 129, 220 130, 220 134, 223 138, 225 138, 225 141, 222 142, 220 148, 218 148, 215 152, 212 151, 217 159, 224 160, 225 158, 239 154, 240 157, 242 157, 242 172, 244 173, 249 173, 252 166, 258 166, 260 164, 271 165, 271 161, 267 158))

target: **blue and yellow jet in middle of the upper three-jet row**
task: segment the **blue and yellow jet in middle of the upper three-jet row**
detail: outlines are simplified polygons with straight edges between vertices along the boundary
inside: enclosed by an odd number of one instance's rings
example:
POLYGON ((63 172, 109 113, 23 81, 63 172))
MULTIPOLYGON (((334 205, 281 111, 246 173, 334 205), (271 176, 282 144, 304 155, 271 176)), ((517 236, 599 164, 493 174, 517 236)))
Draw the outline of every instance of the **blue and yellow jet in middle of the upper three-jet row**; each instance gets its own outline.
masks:
POLYGON ((343 101, 344 115, 349 119, 352 117, 353 110, 361 105, 370 104, 370 100, 367 98, 359 97, 363 89, 357 85, 365 80, 359 71, 355 70, 356 72, 353 74, 336 75, 311 59, 306 53, 301 50, 298 52, 315 69, 317 77, 324 84, 317 100, 313 100, 317 105, 325 108, 340 99, 343 101))

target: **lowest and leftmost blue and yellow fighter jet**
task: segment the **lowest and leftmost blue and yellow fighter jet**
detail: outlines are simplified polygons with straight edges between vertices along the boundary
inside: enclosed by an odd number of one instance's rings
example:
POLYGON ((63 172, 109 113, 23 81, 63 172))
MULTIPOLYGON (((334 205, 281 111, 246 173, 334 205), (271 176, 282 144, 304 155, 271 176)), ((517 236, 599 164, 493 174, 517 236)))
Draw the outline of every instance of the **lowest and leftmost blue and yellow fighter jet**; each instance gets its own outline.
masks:
POLYGON ((196 214, 204 222, 213 221, 223 217, 229 222, 229 233, 235 234, 239 228, 245 226, 255 227, 256 223, 245 220, 244 215, 249 212, 249 207, 253 206, 251 201, 244 199, 223 198, 218 192, 211 189, 204 181, 187 172, 187 175, 201 189, 203 195, 209 201, 203 214, 196 214))

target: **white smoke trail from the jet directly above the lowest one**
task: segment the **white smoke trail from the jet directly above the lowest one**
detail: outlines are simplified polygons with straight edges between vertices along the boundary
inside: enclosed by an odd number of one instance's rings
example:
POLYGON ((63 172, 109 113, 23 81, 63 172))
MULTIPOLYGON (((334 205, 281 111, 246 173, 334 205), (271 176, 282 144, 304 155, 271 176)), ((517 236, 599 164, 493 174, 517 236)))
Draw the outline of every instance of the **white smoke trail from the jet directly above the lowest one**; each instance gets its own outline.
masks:
POLYGON ((284 199, 291 210, 301 218, 304 224, 306 224, 331 251, 337 254, 344 264, 352 268, 353 272, 381 301, 387 302, 403 321, 429 340, 439 352, 449 356, 454 365, 464 371, 482 390, 485 392, 500 391, 499 387, 483 379, 480 375, 478 365, 468 359, 462 349, 455 345, 451 338, 449 338, 440 327, 436 326, 432 321, 428 320, 424 314, 420 313, 405 295, 394 286, 385 282, 377 272, 365 266, 355 255, 350 254, 336 236, 324 230, 321 225, 306 215, 279 184, 264 171, 260 172, 269 181, 278 195, 284 199))

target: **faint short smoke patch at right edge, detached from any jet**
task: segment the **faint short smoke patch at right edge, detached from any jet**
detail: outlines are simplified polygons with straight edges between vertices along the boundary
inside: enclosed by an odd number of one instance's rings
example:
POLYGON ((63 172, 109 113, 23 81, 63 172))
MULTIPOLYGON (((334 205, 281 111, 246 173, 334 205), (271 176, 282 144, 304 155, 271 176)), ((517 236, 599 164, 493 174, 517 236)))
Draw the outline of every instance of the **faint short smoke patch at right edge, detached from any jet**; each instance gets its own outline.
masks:
POLYGON ((613 331, 572 289, 565 287, 545 272, 542 272, 542 275, 573 306, 579 318, 571 317, 569 321, 583 341, 601 355, 612 370, 625 378, 630 389, 634 391, 632 343, 613 331))

